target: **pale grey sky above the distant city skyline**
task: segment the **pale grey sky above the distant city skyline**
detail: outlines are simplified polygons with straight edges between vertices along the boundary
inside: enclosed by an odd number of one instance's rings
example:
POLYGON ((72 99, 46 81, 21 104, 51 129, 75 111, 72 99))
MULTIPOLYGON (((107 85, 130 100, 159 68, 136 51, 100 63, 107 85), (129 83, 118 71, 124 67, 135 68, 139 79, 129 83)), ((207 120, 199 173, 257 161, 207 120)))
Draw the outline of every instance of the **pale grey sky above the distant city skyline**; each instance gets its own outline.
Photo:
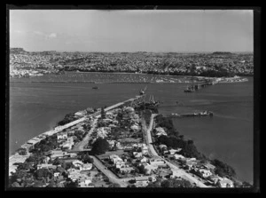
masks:
POLYGON ((11 10, 26 51, 253 51, 253 11, 11 10))

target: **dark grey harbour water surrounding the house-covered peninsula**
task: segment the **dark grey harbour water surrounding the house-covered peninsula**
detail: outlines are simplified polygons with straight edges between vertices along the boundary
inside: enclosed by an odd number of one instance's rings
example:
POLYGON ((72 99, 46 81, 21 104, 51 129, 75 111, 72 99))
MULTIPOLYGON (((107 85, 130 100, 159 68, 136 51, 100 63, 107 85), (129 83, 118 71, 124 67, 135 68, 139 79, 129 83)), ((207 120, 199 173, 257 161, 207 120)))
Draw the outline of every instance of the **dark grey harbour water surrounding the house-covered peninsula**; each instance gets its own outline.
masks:
POLYGON ((91 89, 91 83, 78 83, 79 79, 75 83, 10 83, 9 152, 50 130, 67 113, 132 98, 147 85, 146 93, 163 101, 161 114, 213 111, 212 118, 173 121, 200 152, 229 163, 239 179, 253 183, 253 78, 248 79, 246 83, 220 83, 193 93, 184 93, 187 83, 103 83, 98 84, 98 90, 91 89))

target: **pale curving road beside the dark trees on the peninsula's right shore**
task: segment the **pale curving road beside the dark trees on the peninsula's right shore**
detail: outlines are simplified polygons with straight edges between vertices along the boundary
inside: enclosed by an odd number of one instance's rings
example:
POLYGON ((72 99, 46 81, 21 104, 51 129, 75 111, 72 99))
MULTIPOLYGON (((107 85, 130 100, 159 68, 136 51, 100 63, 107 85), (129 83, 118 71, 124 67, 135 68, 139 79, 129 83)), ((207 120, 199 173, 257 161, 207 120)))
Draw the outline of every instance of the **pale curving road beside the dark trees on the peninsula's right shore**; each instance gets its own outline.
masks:
MULTIPOLYGON (((151 121, 150 121, 150 125, 148 127, 148 129, 146 130, 146 143, 149 149, 150 154, 152 154, 153 156, 159 156, 159 154, 157 154, 157 152, 155 151, 154 147, 153 147, 153 139, 152 139, 152 135, 151 135, 151 131, 153 130, 153 123, 154 123, 154 117, 156 116, 156 114, 153 114, 151 116, 151 121)), ((178 172, 178 175, 180 175, 181 178, 184 178, 186 180, 190 180, 192 183, 195 183, 196 186, 199 187, 209 187, 206 186, 205 184, 203 184, 200 180, 198 180, 197 178, 193 178, 192 175, 190 175, 189 173, 185 172, 182 169, 179 169, 178 167, 176 167, 176 165, 172 164, 171 162, 166 161, 165 159, 161 158, 164 162, 166 162, 168 164, 168 166, 171 168, 171 170, 175 170, 178 172)))

